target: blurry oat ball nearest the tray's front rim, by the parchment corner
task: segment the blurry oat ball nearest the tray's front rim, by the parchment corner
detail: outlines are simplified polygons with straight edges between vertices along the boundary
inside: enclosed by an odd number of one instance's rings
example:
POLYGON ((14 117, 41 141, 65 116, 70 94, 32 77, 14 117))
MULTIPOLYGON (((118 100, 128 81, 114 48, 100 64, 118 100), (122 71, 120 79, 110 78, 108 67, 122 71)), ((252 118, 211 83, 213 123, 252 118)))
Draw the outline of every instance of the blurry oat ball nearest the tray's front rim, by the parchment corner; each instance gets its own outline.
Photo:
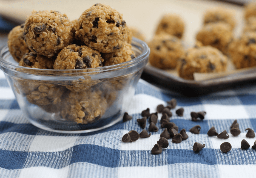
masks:
POLYGON ((226 70, 227 57, 212 46, 191 48, 185 58, 178 61, 177 71, 184 79, 193 80, 194 72, 212 73, 226 70))

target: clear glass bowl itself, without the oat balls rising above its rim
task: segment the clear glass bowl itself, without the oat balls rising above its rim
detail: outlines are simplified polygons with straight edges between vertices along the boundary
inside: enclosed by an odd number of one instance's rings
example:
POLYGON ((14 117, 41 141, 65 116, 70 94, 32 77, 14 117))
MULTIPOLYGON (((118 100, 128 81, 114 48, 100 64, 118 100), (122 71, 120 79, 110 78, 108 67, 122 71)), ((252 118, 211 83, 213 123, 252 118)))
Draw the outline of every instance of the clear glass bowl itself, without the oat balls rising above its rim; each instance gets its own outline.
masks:
POLYGON ((133 38, 136 58, 92 69, 48 70, 19 66, 8 47, 0 67, 28 120, 44 130, 85 133, 122 120, 146 66, 150 49, 133 38))

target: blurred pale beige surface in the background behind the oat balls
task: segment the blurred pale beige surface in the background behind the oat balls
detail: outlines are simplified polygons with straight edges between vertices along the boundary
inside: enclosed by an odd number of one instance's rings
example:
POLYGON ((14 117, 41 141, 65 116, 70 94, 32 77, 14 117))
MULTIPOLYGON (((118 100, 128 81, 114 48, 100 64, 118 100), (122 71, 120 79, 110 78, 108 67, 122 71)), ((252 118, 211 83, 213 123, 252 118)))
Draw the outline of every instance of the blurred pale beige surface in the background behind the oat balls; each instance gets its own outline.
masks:
MULTIPOLYGON (((91 0, 43 1, 43 0, 0 0, 0 14, 18 23, 25 21, 34 10, 58 10, 66 13, 70 20, 77 19, 84 10, 97 3, 91 0)), ((123 14, 127 25, 140 29, 150 40, 155 32, 159 19, 165 13, 180 14, 186 24, 183 37, 186 46, 193 46, 195 35, 202 25, 204 12, 212 7, 223 6, 236 14, 238 28, 234 33, 239 35, 243 25, 243 9, 241 6, 221 1, 202 0, 107 0, 108 4, 123 14)))

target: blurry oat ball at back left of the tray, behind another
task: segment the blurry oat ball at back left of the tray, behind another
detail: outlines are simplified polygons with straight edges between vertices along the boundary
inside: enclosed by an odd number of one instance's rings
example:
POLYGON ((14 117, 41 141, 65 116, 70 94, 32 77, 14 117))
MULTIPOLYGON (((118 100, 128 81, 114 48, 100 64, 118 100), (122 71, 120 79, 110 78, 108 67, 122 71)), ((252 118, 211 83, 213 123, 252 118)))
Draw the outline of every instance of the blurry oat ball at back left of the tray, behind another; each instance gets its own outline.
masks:
POLYGON ((176 14, 165 14, 160 20, 155 34, 160 34, 161 32, 166 32, 170 35, 182 38, 184 32, 184 21, 176 14))

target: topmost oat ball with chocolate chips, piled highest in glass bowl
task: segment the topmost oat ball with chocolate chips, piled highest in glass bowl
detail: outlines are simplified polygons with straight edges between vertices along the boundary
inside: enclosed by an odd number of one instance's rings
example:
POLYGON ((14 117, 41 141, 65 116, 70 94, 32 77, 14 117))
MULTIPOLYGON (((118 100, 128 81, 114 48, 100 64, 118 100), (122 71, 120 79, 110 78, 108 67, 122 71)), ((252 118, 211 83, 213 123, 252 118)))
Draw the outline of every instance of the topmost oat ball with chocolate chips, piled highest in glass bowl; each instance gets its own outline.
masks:
POLYGON ((79 17, 75 38, 99 52, 110 53, 123 47, 128 35, 122 14, 109 5, 95 4, 79 17))

